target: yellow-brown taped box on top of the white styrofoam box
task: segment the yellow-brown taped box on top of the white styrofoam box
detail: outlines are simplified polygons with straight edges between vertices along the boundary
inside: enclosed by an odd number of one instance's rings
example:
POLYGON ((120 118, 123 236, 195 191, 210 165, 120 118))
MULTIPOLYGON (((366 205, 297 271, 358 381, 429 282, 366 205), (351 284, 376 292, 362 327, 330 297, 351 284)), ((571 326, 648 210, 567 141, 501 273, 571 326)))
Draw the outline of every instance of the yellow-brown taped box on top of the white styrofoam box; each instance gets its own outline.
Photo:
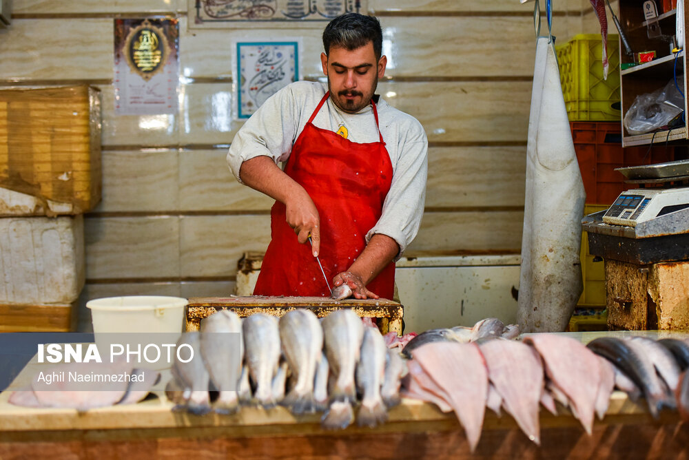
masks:
POLYGON ((99 90, 0 90, 0 216, 79 214, 101 200, 99 90))

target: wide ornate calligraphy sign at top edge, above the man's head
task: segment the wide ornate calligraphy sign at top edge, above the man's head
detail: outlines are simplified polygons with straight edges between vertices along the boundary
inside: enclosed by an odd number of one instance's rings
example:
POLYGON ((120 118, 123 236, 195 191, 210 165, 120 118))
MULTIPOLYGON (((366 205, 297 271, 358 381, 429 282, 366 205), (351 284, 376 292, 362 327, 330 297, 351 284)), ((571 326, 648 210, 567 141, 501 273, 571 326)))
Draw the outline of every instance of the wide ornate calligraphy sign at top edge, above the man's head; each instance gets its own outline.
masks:
POLYGON ((367 14, 367 0, 188 0, 189 28, 322 28, 347 12, 367 14))

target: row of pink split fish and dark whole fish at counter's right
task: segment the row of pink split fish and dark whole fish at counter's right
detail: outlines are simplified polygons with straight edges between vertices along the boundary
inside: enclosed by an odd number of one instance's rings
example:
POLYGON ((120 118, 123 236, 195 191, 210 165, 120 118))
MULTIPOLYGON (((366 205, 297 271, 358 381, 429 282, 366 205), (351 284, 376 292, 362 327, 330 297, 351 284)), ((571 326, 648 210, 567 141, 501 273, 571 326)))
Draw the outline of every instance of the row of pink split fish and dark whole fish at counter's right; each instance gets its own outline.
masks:
POLYGON ((437 340, 409 353, 402 395, 454 411, 471 450, 480 440, 486 407, 498 416, 504 409, 528 439, 540 444, 539 406, 557 415, 557 401, 590 435, 595 415, 603 419, 615 387, 633 399, 644 396, 654 417, 663 407, 677 407, 689 421, 685 340, 606 337, 584 346, 562 335, 534 334, 521 342, 437 340))

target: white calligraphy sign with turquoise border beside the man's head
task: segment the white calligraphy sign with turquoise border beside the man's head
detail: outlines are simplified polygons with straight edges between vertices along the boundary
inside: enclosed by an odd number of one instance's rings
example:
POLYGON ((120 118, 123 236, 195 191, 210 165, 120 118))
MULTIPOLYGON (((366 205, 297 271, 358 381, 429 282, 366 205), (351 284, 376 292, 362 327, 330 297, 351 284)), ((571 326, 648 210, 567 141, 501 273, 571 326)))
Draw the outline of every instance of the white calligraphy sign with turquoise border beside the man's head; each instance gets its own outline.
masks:
POLYGON ((298 81, 299 39, 289 41, 236 42, 236 116, 249 118, 267 98, 298 81))

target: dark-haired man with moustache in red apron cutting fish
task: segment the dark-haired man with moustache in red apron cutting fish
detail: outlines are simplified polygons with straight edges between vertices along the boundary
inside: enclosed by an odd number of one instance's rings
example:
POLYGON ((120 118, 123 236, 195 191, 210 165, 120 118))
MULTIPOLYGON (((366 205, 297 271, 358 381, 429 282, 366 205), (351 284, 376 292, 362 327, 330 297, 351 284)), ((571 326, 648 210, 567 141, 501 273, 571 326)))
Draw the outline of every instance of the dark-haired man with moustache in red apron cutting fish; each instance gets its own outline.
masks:
POLYGON ((323 45, 327 87, 298 81, 271 96, 227 154, 240 182, 276 200, 254 295, 330 295, 318 256, 333 286, 391 299, 393 261, 423 214, 428 140, 373 94, 387 64, 378 19, 343 14, 323 45))

